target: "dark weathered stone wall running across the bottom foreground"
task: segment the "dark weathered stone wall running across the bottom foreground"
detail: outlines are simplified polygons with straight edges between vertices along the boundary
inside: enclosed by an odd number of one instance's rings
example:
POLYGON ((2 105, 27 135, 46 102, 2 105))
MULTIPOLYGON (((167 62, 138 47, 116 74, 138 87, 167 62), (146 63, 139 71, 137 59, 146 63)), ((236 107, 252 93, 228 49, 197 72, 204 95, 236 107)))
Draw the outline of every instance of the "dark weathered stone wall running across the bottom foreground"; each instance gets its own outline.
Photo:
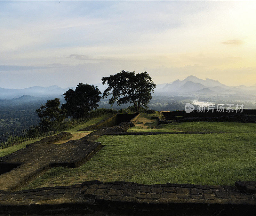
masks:
POLYGON ((236 185, 254 187, 253 193, 240 186, 97 180, 72 186, 0 191, 0 214, 255 215, 256 182, 236 185))

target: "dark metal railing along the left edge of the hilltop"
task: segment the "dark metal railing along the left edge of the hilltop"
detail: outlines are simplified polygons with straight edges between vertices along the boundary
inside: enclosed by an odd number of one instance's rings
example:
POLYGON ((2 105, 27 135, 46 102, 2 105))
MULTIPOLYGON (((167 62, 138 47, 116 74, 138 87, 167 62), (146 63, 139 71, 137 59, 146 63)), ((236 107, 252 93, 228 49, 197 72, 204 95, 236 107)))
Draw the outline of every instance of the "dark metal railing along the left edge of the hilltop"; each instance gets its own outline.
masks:
POLYGON ((42 126, 42 127, 32 127, 28 130, 15 131, 12 133, 2 134, 0 135, 0 149, 14 146, 28 140, 33 140, 33 139, 35 140, 37 138, 43 138, 43 137, 53 135, 55 133, 67 131, 80 124, 84 124, 85 122, 91 120, 92 118, 104 116, 108 113, 113 113, 113 112, 115 111, 112 109, 106 109, 103 111, 102 110, 94 111, 87 116, 77 118, 77 119, 67 120, 58 124, 52 124, 52 125, 42 126))

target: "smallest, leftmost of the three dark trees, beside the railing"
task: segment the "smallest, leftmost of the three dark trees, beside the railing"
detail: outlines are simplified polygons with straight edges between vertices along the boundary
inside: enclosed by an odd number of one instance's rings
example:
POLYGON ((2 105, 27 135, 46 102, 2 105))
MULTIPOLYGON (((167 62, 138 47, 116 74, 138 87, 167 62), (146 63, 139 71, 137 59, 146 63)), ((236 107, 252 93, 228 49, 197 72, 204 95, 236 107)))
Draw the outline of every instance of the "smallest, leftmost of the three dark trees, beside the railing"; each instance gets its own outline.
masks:
POLYGON ((45 105, 41 105, 36 112, 41 120, 39 123, 42 126, 60 123, 66 118, 66 110, 60 109, 60 99, 47 100, 45 105))

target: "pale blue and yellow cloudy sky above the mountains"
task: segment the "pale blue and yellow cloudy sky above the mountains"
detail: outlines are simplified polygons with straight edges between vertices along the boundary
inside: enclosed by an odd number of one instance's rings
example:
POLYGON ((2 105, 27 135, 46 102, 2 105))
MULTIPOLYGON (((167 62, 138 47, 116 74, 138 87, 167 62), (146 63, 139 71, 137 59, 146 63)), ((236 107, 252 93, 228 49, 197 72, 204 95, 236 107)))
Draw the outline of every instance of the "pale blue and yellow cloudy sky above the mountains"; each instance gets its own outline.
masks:
POLYGON ((256 1, 0 1, 0 87, 98 84, 121 70, 256 84, 256 1))

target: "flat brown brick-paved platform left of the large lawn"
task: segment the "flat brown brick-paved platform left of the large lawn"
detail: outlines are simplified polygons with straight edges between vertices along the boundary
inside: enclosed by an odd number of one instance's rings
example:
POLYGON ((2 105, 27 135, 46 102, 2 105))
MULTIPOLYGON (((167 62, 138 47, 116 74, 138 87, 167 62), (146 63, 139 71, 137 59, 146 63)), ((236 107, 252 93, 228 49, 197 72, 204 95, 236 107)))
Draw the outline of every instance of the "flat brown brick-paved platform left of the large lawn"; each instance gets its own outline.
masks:
POLYGON ((0 190, 14 190, 28 179, 54 166, 76 167, 101 148, 99 142, 70 140, 63 144, 52 142, 71 133, 62 132, 27 145, 26 148, 0 158, 0 190))

